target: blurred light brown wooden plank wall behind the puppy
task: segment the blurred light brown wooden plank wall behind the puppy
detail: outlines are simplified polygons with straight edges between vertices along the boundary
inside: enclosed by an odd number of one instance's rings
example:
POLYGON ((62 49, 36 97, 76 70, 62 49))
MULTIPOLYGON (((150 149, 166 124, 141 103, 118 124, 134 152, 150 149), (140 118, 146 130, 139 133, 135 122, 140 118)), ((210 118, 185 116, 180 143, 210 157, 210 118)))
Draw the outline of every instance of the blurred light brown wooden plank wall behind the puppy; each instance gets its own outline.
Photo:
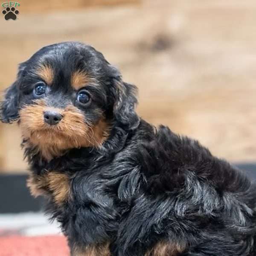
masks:
MULTIPOLYGON (((23 0, 19 11, 16 21, 0 20, 1 90, 39 48, 82 41, 139 87, 148 122, 218 157, 256 159, 255 0, 23 0)), ((19 144, 16 126, 0 125, 2 172, 26 170, 19 144)))

